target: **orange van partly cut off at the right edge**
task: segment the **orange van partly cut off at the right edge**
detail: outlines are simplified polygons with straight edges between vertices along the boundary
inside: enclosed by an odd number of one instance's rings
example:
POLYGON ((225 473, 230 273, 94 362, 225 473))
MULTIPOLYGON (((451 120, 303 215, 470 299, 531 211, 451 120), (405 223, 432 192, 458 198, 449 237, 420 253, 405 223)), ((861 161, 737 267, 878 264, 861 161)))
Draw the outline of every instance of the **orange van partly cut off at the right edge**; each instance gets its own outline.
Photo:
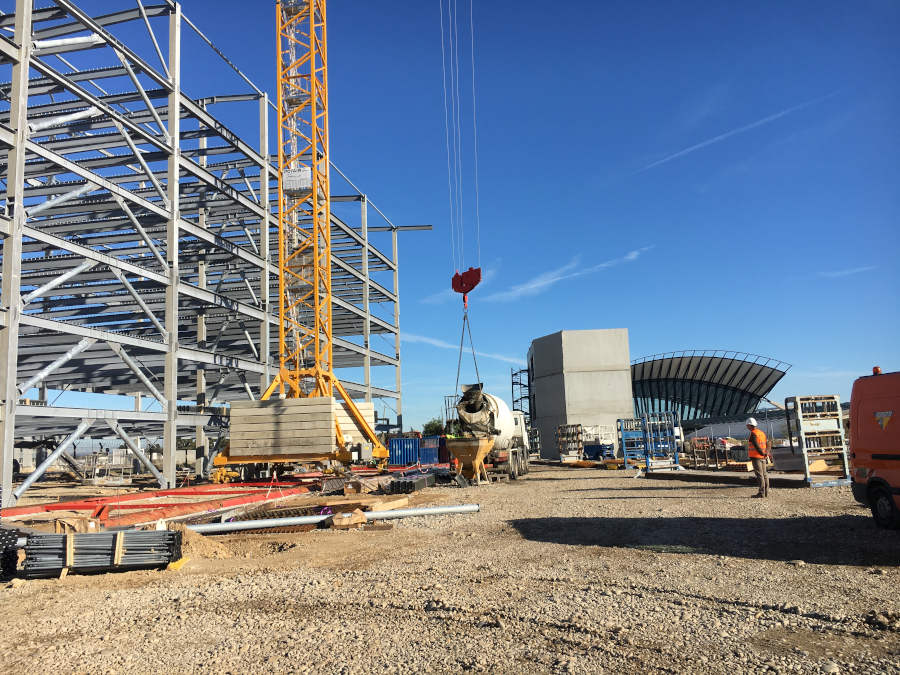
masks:
POLYGON ((851 486, 879 526, 900 529, 900 372, 872 372, 850 395, 851 486))

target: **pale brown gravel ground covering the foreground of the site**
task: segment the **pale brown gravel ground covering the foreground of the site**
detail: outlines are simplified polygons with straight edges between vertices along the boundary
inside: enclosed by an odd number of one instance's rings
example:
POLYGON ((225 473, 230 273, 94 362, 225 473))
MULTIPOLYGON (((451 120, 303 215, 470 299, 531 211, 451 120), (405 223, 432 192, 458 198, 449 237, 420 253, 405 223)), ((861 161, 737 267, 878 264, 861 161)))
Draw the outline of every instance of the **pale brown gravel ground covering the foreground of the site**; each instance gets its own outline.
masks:
POLYGON ((0 671, 900 673, 900 533, 845 488, 753 492, 538 466, 418 497, 477 514, 16 581, 0 671))

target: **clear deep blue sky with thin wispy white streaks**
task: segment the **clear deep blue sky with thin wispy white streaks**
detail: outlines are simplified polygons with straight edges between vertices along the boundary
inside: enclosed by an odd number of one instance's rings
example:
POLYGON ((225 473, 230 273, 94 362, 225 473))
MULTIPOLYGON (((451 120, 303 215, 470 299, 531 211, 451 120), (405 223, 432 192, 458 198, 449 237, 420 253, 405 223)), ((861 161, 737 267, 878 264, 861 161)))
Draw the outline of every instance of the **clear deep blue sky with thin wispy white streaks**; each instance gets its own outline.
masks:
MULTIPOLYGON (((486 277, 470 318, 488 389, 509 398, 530 341, 579 328, 628 328, 632 358, 786 361, 776 400, 846 399, 873 364, 900 369, 900 4, 476 0, 480 247, 457 4, 463 263, 486 277)), ((185 13, 274 91, 274 10, 257 6, 185 13)), ((414 426, 453 391, 462 313, 440 16, 438 0, 329 5, 332 158, 395 223, 435 226, 400 247, 414 426)), ((189 93, 243 91, 197 53, 189 93)))

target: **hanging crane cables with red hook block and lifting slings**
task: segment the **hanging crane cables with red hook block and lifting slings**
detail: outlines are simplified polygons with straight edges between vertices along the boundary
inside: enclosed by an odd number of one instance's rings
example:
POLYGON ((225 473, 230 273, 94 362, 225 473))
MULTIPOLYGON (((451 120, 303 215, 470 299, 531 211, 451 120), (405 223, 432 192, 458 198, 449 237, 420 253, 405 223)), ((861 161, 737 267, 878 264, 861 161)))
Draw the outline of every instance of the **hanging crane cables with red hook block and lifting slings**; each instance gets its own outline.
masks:
MULTIPOLYGON (((469 344, 472 350, 472 361, 475 366, 477 381, 481 381, 478 373, 478 360, 476 358, 475 343, 472 339, 472 325, 469 321, 469 293, 481 282, 481 214, 478 190, 478 125, 476 117, 475 99, 475 21, 473 16, 473 0, 469 0, 469 63, 471 66, 472 84, 472 182, 474 186, 474 239, 477 254, 477 267, 469 267, 464 272, 459 270, 465 267, 466 262, 466 225, 465 225, 465 201, 464 186, 466 185, 466 166, 464 162, 464 134, 461 124, 462 105, 460 95, 460 52, 461 42, 465 39, 465 30, 460 36, 461 11, 466 9, 465 0, 438 0, 441 15, 441 66, 443 69, 444 92, 444 127, 447 148, 447 190, 450 202, 450 268, 455 270, 450 286, 461 294, 463 300, 462 329, 459 340, 459 358, 456 368, 456 387, 459 389, 459 376, 462 369, 463 348, 466 334, 469 336, 469 344), (445 25, 446 19, 446 25, 445 25)), ((465 21, 465 17, 462 18, 465 21)), ((463 26, 465 29, 465 26, 463 26)))

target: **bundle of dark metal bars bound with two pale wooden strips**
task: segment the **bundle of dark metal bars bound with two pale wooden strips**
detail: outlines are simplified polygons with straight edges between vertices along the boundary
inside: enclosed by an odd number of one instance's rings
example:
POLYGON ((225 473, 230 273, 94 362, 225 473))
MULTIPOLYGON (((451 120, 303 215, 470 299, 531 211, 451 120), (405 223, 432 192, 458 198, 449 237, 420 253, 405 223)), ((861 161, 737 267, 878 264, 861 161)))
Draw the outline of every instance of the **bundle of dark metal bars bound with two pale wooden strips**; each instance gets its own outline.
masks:
POLYGON ((58 576, 63 568, 88 574, 165 567, 181 558, 181 533, 128 530, 78 534, 37 534, 25 545, 29 579, 58 576))

